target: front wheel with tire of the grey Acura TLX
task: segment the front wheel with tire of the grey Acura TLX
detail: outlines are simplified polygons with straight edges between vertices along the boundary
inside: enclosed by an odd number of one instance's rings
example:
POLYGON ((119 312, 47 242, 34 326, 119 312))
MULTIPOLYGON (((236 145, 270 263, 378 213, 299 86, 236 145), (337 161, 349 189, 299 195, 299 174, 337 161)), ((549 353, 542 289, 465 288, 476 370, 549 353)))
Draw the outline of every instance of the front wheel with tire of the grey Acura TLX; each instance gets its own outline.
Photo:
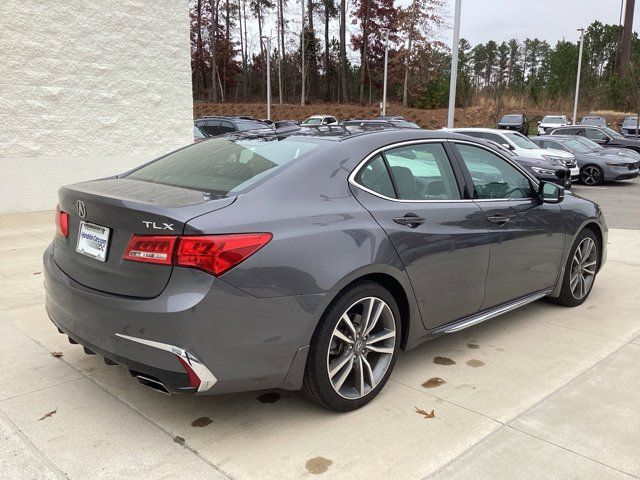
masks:
POLYGON ((555 299, 568 307, 581 305, 591 293, 600 262, 598 239, 589 229, 582 230, 571 248, 564 270, 562 290, 555 299))

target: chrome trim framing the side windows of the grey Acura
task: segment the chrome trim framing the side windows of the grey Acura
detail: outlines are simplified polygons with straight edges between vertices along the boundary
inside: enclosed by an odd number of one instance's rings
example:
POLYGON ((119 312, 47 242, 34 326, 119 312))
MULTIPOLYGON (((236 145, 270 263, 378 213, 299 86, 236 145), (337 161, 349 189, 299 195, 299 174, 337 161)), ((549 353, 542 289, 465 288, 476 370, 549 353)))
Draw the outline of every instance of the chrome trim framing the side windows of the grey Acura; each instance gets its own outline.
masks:
MULTIPOLYGON (((375 195, 376 197, 382 198, 384 200, 389 200, 391 202, 397 202, 397 203, 505 202, 505 201, 522 201, 522 200, 527 200, 527 199, 530 200, 530 199, 535 198, 535 196, 534 196, 534 197, 526 197, 526 198, 461 198, 461 199, 451 199, 451 200, 404 200, 404 199, 399 199, 399 198, 387 197, 386 195, 382 195, 382 194, 380 194, 378 192, 374 192, 373 190, 365 187, 364 185, 360 185, 355 180, 355 178, 358 175, 358 173, 360 172, 360 170, 362 170, 362 168, 364 168, 364 166, 369 162, 369 160, 371 160, 373 157, 375 157, 379 153, 382 153, 382 152, 384 152, 386 150, 390 150, 392 148, 397 148, 397 147, 404 147, 406 145, 416 145, 416 144, 422 144, 422 143, 444 143, 444 142, 466 143, 466 144, 472 145, 474 147, 483 148, 483 149, 487 150, 488 152, 493 153, 494 155, 497 155, 498 157, 502 158, 505 162, 507 162, 511 166, 515 167, 515 169, 518 170, 520 173, 522 173, 525 177, 527 177, 533 183, 533 185, 536 188, 540 186, 540 183, 538 182, 538 179, 536 179, 535 177, 529 175, 529 173, 527 171, 525 171, 522 167, 517 165, 515 162, 512 162, 510 159, 508 159, 507 157, 505 157, 501 153, 496 152, 495 150, 493 150, 493 149, 491 149, 489 147, 486 147, 485 145, 482 145, 480 143, 476 143, 476 142, 469 141, 469 140, 458 140, 458 139, 451 139, 451 138, 438 138, 438 139, 429 138, 429 139, 421 139, 421 140, 406 140, 406 141, 403 141, 403 142, 393 143, 393 144, 385 145, 384 147, 377 148, 376 150, 371 152, 369 155, 367 155, 364 158, 364 160, 359 162, 358 165, 356 165, 356 168, 354 168, 353 171, 351 172, 351 174, 349 175, 349 180, 348 181, 354 187, 356 187, 356 188, 358 188, 360 190, 364 190, 365 192, 370 193, 371 195, 375 195)), ((447 155, 447 158, 448 158, 448 155, 447 155)), ((449 161, 451 162, 450 158, 449 158, 449 161)))

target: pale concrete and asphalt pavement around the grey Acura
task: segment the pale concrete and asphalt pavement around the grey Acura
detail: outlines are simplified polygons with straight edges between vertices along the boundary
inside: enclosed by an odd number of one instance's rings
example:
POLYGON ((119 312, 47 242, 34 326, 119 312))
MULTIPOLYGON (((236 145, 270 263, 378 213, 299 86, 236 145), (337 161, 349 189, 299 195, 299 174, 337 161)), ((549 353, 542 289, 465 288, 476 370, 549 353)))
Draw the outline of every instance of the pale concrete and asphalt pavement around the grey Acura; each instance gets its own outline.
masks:
POLYGON ((574 188, 611 229, 588 301, 539 301, 405 353, 348 414, 294 392, 142 388, 47 319, 53 213, 0 216, 0 477, 640 477, 640 180, 574 188))

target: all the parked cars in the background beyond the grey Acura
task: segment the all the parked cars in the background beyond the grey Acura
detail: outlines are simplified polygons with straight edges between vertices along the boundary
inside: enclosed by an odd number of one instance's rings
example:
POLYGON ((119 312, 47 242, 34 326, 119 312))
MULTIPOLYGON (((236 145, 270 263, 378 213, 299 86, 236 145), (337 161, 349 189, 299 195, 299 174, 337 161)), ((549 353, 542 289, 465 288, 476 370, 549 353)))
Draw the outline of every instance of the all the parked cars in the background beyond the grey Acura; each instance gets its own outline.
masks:
MULTIPOLYGON (((547 116, 539 135, 529 138, 528 119, 524 114, 505 115, 498 128, 456 128, 451 131, 489 142, 518 162, 540 180, 571 188, 573 182, 599 185, 606 181, 627 180, 638 176, 640 140, 625 137, 610 129, 604 117, 588 116, 579 125, 568 125, 565 116, 547 116), (557 122, 553 123, 553 122, 557 122), (604 122, 604 124, 602 123, 604 122), (549 125, 555 125, 549 127, 549 125)), ((637 120, 636 120, 637 121, 637 120)), ((247 130, 273 129, 270 120, 249 116, 206 116, 194 123, 194 141, 247 130)), ((373 119, 339 121, 332 115, 313 115, 302 122, 283 120, 279 129, 313 128, 420 128, 402 116, 379 116, 373 119)))

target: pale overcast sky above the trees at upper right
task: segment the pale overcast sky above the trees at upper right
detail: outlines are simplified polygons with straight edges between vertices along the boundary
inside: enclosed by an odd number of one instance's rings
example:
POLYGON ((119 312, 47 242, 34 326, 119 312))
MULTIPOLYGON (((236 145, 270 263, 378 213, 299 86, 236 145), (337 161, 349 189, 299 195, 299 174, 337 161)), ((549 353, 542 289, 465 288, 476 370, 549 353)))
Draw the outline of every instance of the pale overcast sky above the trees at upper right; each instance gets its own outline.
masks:
MULTIPOLYGON (((447 0, 453 26, 454 0, 447 0)), ((633 21, 640 27, 640 6, 636 2, 633 21)), ((594 20, 618 24, 620 0, 462 0, 460 36, 471 45, 488 40, 539 38, 554 45, 558 40, 577 40, 577 28, 594 20)), ((442 32, 451 44, 453 29, 442 32)))

